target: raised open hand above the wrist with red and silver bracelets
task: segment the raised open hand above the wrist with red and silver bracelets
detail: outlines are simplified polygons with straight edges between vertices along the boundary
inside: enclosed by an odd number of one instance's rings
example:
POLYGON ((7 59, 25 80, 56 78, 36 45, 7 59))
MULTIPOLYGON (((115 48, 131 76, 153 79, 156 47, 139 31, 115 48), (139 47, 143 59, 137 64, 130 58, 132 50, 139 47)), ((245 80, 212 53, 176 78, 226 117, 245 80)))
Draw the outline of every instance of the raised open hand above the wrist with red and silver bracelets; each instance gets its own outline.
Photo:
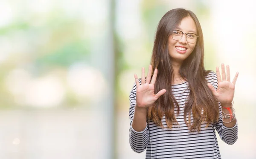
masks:
POLYGON ((216 67, 218 89, 215 90, 215 88, 210 83, 208 83, 208 87, 211 89, 213 95, 218 100, 218 102, 221 102, 221 106, 230 107, 234 98, 235 85, 238 77, 238 72, 236 72, 233 82, 230 82, 230 68, 229 68, 229 65, 227 65, 226 67, 227 67, 227 77, 225 73, 224 63, 221 64, 221 74, 220 74, 219 68, 216 67), (222 80, 221 80, 221 76, 222 76, 222 80))

